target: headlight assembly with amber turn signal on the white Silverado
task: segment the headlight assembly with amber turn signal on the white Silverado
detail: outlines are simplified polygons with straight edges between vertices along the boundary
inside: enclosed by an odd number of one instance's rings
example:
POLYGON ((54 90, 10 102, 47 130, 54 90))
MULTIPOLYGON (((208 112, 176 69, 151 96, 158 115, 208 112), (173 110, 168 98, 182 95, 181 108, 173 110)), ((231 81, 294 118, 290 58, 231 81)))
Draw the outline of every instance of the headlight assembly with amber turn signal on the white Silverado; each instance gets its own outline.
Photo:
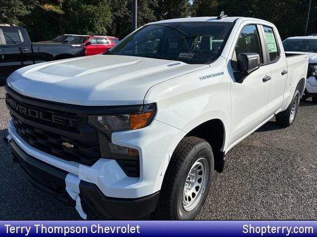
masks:
POLYGON ((139 160, 138 150, 111 143, 111 133, 146 127, 152 122, 156 111, 156 104, 153 103, 144 105, 142 112, 138 113, 89 116, 89 123, 98 130, 102 158, 139 160))

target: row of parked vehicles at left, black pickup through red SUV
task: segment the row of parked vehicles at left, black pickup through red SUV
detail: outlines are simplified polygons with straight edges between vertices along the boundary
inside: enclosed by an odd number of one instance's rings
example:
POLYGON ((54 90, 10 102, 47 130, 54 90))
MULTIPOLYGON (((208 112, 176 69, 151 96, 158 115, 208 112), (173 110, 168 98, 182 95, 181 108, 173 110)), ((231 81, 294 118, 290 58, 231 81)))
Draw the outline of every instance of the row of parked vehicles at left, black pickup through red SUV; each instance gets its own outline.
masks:
POLYGON ((0 78, 31 64, 104 53, 118 41, 106 36, 61 35, 32 43, 26 29, 0 26, 0 78))

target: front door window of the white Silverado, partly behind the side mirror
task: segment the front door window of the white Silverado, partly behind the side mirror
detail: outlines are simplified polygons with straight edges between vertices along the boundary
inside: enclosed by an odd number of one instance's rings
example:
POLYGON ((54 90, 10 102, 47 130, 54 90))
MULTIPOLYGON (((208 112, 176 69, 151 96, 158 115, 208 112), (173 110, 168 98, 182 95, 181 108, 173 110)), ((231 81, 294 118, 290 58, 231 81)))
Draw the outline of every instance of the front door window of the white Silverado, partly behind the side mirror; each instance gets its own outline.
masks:
POLYGON ((260 62, 263 63, 259 32, 256 25, 248 25, 242 29, 232 56, 231 65, 233 69, 237 68, 237 57, 240 53, 258 53, 260 62))

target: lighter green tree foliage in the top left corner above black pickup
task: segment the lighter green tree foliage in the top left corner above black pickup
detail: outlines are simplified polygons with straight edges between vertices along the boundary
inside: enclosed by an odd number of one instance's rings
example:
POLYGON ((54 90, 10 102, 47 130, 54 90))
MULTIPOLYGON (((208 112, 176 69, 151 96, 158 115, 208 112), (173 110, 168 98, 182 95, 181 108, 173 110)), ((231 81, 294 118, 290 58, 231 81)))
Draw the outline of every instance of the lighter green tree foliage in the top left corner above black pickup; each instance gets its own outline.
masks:
POLYGON ((32 6, 21 0, 0 0, 0 23, 23 26, 19 17, 30 13, 32 6))

